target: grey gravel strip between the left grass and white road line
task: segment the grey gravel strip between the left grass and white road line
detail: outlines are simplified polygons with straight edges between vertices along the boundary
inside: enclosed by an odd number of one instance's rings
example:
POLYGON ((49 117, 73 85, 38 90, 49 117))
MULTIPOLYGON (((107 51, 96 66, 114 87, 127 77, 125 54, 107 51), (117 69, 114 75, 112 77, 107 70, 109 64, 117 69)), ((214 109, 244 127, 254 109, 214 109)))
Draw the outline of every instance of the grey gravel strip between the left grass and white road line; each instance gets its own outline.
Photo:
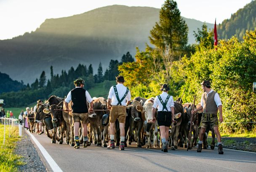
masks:
POLYGON ((22 172, 46 172, 45 165, 26 131, 22 130, 21 141, 17 142, 15 154, 23 156, 21 161, 24 165, 18 166, 22 172))

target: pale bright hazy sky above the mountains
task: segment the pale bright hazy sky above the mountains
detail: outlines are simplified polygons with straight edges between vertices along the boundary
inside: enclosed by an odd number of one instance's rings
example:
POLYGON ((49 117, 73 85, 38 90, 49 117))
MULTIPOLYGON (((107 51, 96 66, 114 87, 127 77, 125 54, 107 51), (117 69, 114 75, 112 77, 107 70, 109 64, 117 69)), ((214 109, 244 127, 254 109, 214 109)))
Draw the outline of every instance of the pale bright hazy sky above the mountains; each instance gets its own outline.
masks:
MULTIPOLYGON (((161 8, 165 0, 0 0, 0 39, 35 31, 46 18, 84 13, 107 5, 161 8)), ((181 16, 221 23, 251 0, 176 0, 181 16)), ((200 26, 199 26, 200 27, 200 26)))

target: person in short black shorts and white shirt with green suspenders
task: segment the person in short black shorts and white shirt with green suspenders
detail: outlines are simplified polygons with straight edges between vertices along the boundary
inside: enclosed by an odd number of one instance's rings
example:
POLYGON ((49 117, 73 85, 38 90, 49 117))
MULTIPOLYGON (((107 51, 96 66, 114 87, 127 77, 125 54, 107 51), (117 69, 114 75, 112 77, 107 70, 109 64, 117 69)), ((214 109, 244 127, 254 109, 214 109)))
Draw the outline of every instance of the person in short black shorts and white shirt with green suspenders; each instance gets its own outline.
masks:
MULTIPOLYGON (((157 123, 160 129, 162 151, 168 152, 167 142, 169 137, 169 127, 171 122, 174 121, 174 102, 173 96, 168 94, 170 88, 167 84, 163 84, 160 90, 163 91, 163 93, 155 97, 152 114, 155 114, 155 109, 157 108, 157 123)), ((153 122, 154 121, 155 117, 153 117, 153 122)))

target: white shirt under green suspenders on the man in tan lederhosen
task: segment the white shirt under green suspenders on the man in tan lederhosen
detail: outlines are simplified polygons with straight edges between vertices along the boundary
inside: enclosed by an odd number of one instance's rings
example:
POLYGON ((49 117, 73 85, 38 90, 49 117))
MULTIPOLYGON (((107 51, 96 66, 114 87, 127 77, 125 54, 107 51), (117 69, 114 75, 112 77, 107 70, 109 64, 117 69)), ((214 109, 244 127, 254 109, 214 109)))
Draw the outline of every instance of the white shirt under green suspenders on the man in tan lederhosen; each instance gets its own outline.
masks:
MULTIPOLYGON (((117 92, 118 92, 118 97, 121 100, 123 98, 123 96, 125 95, 125 92, 127 90, 127 88, 122 84, 122 83, 118 83, 116 85, 117 87, 117 92)), ((115 96, 115 90, 114 90, 114 86, 112 86, 109 90, 109 99, 111 99, 111 105, 117 105, 118 101, 117 101, 117 97, 115 96)), ((121 104, 123 106, 126 106, 125 100, 131 101, 131 92, 130 90, 128 91, 128 94, 126 95, 125 99, 123 99, 123 101, 121 102, 121 104)))

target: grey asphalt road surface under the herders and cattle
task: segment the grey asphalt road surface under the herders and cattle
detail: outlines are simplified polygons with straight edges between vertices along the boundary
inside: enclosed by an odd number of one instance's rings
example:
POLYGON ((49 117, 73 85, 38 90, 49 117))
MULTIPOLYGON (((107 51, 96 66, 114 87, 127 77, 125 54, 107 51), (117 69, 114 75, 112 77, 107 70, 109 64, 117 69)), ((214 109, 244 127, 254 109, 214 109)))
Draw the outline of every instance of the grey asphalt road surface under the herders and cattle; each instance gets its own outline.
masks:
MULTIPOLYGON (((218 149, 203 149, 197 153, 196 148, 178 148, 168 153, 159 149, 136 148, 129 145, 124 151, 118 147, 107 149, 91 145, 87 148, 73 149, 67 144, 51 143, 45 134, 36 135, 37 141, 64 172, 140 172, 140 171, 173 171, 173 172, 255 172, 256 153, 224 149, 219 155, 218 149)), ((34 142, 35 143, 35 142, 34 142)), ((42 154, 40 154, 42 156, 42 154)), ((42 158, 44 159, 44 158, 42 158)), ((44 160, 44 163, 47 162, 44 160)), ((48 167, 51 171, 51 168, 48 167)))

